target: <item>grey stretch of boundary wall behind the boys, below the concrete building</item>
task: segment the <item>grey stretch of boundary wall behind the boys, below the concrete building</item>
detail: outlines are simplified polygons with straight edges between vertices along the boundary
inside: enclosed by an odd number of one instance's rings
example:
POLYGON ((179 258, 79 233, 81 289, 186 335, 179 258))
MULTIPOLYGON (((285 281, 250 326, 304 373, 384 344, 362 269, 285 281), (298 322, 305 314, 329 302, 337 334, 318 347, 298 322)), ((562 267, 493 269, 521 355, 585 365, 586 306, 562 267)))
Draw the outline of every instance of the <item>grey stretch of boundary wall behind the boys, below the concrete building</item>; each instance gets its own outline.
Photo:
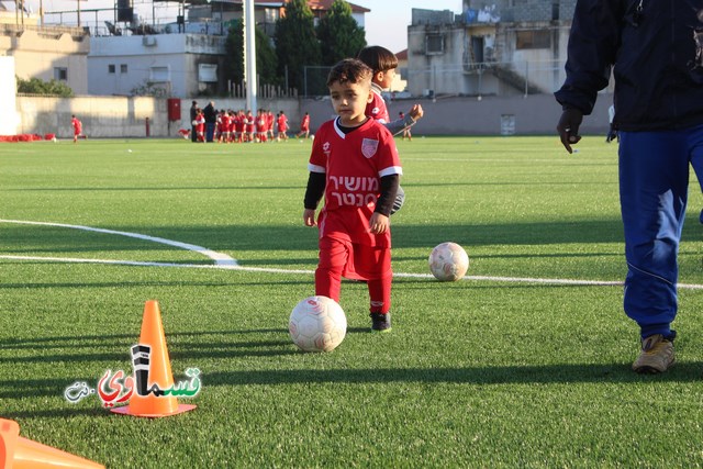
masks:
MULTIPOLYGON (((581 133, 605 135, 610 127, 607 108, 613 96, 599 94, 593 113, 583 119, 581 133)), ((413 127, 413 135, 556 135, 561 107, 551 94, 520 97, 451 97, 432 99, 403 99, 388 102, 391 120, 400 111, 408 112, 420 103, 424 118, 413 127), (511 125, 512 122, 512 125, 511 125)), ((311 130, 332 118, 328 99, 303 100, 301 113, 310 112, 311 130)), ((293 130, 298 127, 293 126, 293 130)))

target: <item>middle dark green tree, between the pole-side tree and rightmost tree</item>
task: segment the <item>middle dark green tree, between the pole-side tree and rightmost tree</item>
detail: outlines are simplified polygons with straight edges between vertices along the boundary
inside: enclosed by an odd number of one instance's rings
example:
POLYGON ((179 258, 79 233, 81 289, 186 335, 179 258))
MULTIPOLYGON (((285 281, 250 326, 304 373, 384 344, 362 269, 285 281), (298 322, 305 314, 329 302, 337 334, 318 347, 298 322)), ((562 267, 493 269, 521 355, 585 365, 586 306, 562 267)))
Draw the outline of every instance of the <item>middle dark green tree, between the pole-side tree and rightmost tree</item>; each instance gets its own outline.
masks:
POLYGON ((281 77, 288 74, 289 87, 309 93, 304 86, 311 89, 314 83, 305 82, 304 67, 321 65, 314 16, 305 0, 290 0, 284 14, 276 22, 278 72, 281 77))

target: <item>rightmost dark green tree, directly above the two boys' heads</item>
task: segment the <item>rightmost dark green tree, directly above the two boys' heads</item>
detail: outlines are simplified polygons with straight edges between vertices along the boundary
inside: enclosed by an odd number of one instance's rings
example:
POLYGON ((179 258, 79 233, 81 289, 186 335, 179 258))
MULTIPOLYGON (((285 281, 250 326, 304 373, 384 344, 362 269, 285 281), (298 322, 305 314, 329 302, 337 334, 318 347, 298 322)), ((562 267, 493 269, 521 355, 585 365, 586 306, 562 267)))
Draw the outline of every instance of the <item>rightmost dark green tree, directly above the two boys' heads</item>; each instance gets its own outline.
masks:
POLYGON ((366 32, 352 16, 352 7, 345 0, 334 0, 327 14, 320 20, 316 32, 325 65, 356 57, 366 47, 366 32))

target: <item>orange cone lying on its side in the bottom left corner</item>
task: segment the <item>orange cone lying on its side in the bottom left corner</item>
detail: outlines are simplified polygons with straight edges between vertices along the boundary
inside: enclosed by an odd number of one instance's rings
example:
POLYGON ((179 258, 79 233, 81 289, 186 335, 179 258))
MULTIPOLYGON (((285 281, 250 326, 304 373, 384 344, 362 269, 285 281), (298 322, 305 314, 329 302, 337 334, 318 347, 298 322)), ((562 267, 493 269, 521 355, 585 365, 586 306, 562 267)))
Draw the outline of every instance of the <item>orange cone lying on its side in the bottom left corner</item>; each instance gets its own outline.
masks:
POLYGON ((51 469, 103 468, 88 459, 42 445, 20 436, 20 425, 14 421, 0 418, 0 468, 3 469, 51 469))

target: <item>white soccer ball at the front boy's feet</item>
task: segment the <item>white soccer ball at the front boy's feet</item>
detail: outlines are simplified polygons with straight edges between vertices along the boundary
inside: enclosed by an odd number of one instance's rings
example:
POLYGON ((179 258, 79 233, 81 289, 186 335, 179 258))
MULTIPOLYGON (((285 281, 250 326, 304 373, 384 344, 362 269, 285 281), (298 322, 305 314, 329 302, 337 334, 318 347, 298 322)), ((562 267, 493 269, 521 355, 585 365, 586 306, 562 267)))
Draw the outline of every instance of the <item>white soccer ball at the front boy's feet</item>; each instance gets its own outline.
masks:
POLYGON ((293 308, 288 321, 290 338, 304 351, 332 351, 347 333, 347 316, 336 301, 310 297, 293 308))

